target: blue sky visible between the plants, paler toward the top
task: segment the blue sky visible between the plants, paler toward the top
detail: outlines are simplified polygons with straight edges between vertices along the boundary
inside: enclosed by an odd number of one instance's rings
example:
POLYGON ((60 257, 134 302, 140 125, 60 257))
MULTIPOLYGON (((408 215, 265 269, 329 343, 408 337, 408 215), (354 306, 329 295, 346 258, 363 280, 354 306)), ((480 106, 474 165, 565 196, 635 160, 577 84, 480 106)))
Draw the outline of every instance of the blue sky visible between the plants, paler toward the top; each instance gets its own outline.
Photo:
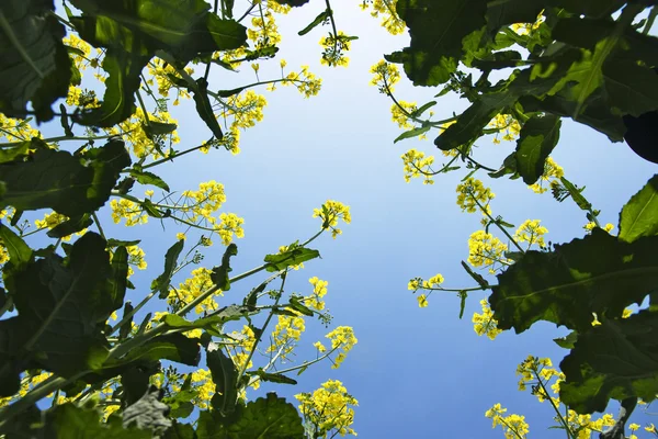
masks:
MULTIPOLYGON (((291 88, 273 93, 263 89, 269 101, 265 117, 242 134, 240 155, 212 150, 157 168, 177 191, 196 189, 207 180, 225 184, 228 200, 223 211, 246 219, 246 237, 237 241, 239 255, 231 261, 234 273, 259 266, 265 254, 275 252, 281 245, 313 235, 320 225, 311 218, 313 209, 327 199, 351 206, 353 222, 342 227, 343 235, 336 240, 324 236, 314 243, 322 259, 293 272, 287 284, 288 291, 308 293, 308 278, 329 281, 331 326, 353 326, 359 344, 338 370, 321 363, 298 376, 297 386, 263 386, 250 396, 275 389, 292 398, 327 379, 338 379, 360 402, 353 427, 362 438, 500 438, 502 432, 491 430, 490 420, 484 417, 495 403, 509 413, 525 415, 530 437, 560 437, 559 431, 546 429, 553 424, 549 406, 537 403, 530 392, 517 391, 514 370, 531 353, 549 357, 557 364, 567 351, 552 339, 564 335, 564 328, 537 324, 522 335, 506 333, 491 341, 478 337, 470 323, 484 293, 468 297, 460 320, 455 294, 433 294, 430 306, 421 309, 407 290, 410 278, 427 279, 438 272, 444 275, 446 288, 473 286, 460 261, 468 257, 467 239, 480 227, 479 215, 462 213, 455 203, 455 187, 463 171, 441 176, 434 185, 404 181, 400 155, 410 148, 438 153, 431 140, 435 133, 430 133, 429 140, 393 144, 400 131, 390 121, 392 102, 368 86, 368 70, 383 54, 404 47, 407 36, 388 35, 358 3, 334 5, 339 29, 360 37, 352 43, 349 68, 319 65, 317 43, 327 27, 305 37, 296 35, 320 12, 321 4, 314 2, 280 20, 284 41, 279 56, 260 63, 261 79, 277 77, 280 58, 287 60, 290 69, 309 65, 310 71, 324 79, 318 97, 304 99, 291 88)), ((253 79, 248 65, 237 75, 215 67, 211 88, 229 89, 253 79)), ((422 104, 436 92, 402 80, 396 95, 422 104)), ((464 108, 464 102, 447 95, 434 110, 442 117, 464 108)), ((211 135, 193 111, 192 105, 183 104, 173 112, 180 122, 181 149, 211 135)), ((488 139, 478 145, 475 157, 495 168, 515 146, 488 139)), ((621 206, 658 171, 625 144, 611 144, 568 121, 553 157, 569 180, 587 185, 586 195, 602 211, 602 222, 615 226, 621 206)), ((494 213, 506 221, 519 225, 541 218, 553 243, 583 235, 587 221, 572 202, 557 203, 549 193, 534 194, 520 180, 481 177, 497 194, 494 213)), ((143 239, 149 270, 135 274, 138 289, 128 299, 136 303, 161 270, 163 252, 175 241, 175 232, 182 229, 166 223, 163 233, 152 221, 147 226, 114 227, 107 210, 101 217, 106 218, 103 225, 109 235, 143 239)), ((218 245, 206 249, 204 263, 218 264, 223 251, 218 245)), ((262 278, 236 284, 224 304, 240 302, 262 278)), ((162 302, 155 303, 150 311, 163 307, 162 302)), ((300 360, 314 358, 311 344, 328 331, 317 322, 307 327, 298 351, 300 360)), ((638 414, 634 420, 643 426, 651 421, 638 414)))

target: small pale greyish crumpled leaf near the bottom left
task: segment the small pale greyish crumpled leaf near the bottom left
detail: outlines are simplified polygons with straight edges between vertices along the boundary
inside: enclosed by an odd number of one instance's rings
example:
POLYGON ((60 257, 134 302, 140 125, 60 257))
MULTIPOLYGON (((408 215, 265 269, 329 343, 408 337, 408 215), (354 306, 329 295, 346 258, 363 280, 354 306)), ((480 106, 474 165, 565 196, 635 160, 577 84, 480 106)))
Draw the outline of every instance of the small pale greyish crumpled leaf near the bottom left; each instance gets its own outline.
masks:
POLYGON ((169 412, 169 406, 160 402, 163 392, 163 390, 151 385, 139 401, 127 406, 123 412, 124 428, 135 426, 140 430, 149 430, 158 436, 171 427, 171 419, 166 415, 169 412))

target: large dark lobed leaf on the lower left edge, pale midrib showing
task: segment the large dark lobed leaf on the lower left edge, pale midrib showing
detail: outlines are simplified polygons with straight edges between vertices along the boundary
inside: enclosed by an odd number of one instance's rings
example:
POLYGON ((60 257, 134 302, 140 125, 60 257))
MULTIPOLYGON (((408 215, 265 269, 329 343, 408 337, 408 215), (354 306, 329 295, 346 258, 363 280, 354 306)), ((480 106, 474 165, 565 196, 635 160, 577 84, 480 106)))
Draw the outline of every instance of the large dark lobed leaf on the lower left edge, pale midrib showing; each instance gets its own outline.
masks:
POLYGON ((88 233, 68 263, 50 255, 10 277, 18 316, 0 322, 2 395, 27 368, 63 376, 101 368, 107 352, 102 325, 115 309, 104 239, 88 233))

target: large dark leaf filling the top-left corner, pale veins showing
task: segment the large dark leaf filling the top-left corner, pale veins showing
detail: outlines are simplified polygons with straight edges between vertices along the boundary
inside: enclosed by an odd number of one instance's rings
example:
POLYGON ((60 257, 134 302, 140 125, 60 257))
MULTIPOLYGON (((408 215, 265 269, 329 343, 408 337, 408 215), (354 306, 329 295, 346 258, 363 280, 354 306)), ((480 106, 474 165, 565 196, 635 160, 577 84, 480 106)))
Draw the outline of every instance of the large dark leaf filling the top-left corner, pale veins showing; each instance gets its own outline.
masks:
POLYGON ((50 13, 52 0, 0 2, 0 112, 25 117, 27 102, 38 122, 68 93, 71 60, 61 38, 66 30, 50 13))

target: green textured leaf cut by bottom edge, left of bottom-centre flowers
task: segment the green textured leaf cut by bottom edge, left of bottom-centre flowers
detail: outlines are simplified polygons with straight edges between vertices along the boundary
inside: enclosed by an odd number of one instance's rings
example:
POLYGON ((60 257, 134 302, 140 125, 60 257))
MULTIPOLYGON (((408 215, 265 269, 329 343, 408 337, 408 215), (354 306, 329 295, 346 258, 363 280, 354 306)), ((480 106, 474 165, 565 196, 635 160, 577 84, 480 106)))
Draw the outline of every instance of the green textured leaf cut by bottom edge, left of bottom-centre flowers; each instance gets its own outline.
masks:
POLYGON ((196 435, 198 439, 303 439, 304 426, 295 406, 268 393, 238 406, 232 419, 202 412, 196 435))

